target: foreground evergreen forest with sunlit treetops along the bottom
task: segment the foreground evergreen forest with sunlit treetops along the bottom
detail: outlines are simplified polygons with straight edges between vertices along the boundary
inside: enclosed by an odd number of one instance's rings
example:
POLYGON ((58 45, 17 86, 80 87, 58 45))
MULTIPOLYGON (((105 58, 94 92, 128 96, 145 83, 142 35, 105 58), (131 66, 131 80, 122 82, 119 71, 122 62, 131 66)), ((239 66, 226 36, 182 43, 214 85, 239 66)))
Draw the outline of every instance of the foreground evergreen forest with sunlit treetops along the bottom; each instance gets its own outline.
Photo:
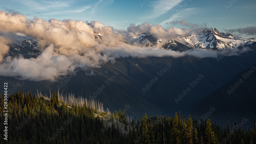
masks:
MULTIPOLYGON (((4 121, 4 94, 0 97, 0 120, 4 121)), ((8 97, 8 141, 0 135, 2 143, 145 143, 145 144, 256 144, 256 128, 237 125, 221 127, 211 118, 198 120, 155 116, 129 119, 125 111, 99 111, 94 106, 64 103, 57 93, 50 99, 20 91, 8 97)), ((255 122, 254 122, 255 123, 255 122)), ((4 129, 3 123, 0 123, 4 129)), ((3 133, 3 131, 1 131, 3 133)))

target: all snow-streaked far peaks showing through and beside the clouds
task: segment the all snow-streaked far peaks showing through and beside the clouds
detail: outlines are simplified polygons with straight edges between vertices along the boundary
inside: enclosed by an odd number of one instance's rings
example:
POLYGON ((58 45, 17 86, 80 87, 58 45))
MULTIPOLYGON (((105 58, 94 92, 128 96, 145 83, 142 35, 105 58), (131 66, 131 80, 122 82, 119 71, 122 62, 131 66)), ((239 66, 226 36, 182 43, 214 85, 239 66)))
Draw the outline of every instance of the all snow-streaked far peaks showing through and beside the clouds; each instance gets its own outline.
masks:
MULTIPOLYGON (((99 32, 94 32, 93 38, 102 40, 102 36, 99 32)), ((146 47, 152 47, 159 44, 159 46, 164 49, 180 52, 194 48, 212 50, 241 49, 243 47, 249 47, 251 49, 256 48, 256 38, 245 39, 236 37, 229 32, 226 34, 224 32, 219 32, 216 28, 210 30, 204 29, 204 31, 198 35, 179 37, 177 41, 169 39, 166 43, 162 43, 162 39, 156 38, 154 34, 144 32, 132 37, 130 40, 126 40, 126 43, 146 47)), ((9 55, 11 56, 22 54, 24 58, 29 58, 29 56, 37 57, 38 53, 39 49, 37 42, 33 39, 10 45, 9 55)))

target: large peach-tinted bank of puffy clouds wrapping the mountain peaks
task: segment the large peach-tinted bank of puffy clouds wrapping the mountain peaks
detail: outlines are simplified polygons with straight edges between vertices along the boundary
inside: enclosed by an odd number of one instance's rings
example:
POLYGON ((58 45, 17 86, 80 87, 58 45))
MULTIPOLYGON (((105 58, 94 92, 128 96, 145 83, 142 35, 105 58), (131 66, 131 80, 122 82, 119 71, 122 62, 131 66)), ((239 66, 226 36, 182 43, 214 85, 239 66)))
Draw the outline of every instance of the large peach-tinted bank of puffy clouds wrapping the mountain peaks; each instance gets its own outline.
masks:
MULTIPOLYGON (((175 22, 174 22, 175 23, 175 22)), ((184 25, 191 26, 185 20, 184 25)), ((195 27, 195 26, 191 26, 195 27)), ((99 67, 100 64, 114 61, 115 58, 138 57, 216 57, 216 51, 194 49, 176 52, 162 48, 164 41, 177 39, 192 32, 191 28, 179 29, 144 23, 131 24, 127 30, 116 30, 98 21, 90 23, 76 20, 48 21, 34 17, 27 19, 21 14, 7 14, 0 11, 0 75, 12 76, 20 80, 55 81, 61 75, 67 75, 76 68, 99 67), (99 32, 101 38, 97 37, 99 32), (129 45, 126 40, 143 32, 150 32, 156 38, 163 39, 162 44, 153 47, 129 45), (20 40, 35 39, 40 54, 36 58, 25 59, 22 56, 8 56, 10 45, 20 40)), ((87 75, 92 75, 89 73, 87 75)))

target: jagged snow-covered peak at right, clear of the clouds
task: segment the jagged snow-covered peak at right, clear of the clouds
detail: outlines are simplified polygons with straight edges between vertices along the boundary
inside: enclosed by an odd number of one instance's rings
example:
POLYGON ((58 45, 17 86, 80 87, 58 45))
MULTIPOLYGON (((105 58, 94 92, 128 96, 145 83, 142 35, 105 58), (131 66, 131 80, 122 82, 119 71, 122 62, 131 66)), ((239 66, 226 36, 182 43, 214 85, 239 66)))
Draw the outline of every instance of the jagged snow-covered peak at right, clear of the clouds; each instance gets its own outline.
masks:
POLYGON ((178 41, 190 48, 213 50, 250 47, 255 42, 253 40, 235 37, 228 32, 226 34, 223 32, 220 33, 216 28, 211 30, 205 29, 198 35, 179 37, 178 41))

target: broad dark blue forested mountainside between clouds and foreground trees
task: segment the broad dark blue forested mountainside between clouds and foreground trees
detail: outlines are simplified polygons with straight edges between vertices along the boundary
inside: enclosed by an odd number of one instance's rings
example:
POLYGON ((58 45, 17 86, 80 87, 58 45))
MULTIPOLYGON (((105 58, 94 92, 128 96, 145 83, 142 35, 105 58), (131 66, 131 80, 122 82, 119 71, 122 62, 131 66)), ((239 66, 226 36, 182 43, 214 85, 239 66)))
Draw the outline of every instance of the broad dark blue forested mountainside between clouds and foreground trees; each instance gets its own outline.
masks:
POLYGON ((104 107, 111 111, 129 105, 131 107, 125 110, 125 113, 133 115, 135 119, 145 113, 151 116, 173 115, 178 111, 185 116, 202 98, 256 63, 255 54, 255 51, 242 53, 242 57, 224 57, 219 62, 215 58, 199 59, 192 56, 119 58, 115 63, 108 62, 100 68, 91 68, 94 73, 92 76, 86 75, 84 71, 75 70, 76 74, 70 73, 73 74, 72 77, 69 77, 70 74, 60 76, 55 82, 25 80, 21 83, 13 77, 0 77, 0 83, 8 82, 8 85, 14 88, 13 92, 22 89, 37 93, 38 89, 43 95, 49 95, 49 89, 59 89, 63 94, 72 92, 87 99, 93 97, 104 103, 104 107), (169 67, 167 64, 170 68, 161 73, 164 68, 169 67), (114 73, 118 73, 118 76, 110 80, 114 73), (204 75, 204 78, 196 85, 191 84, 199 74, 204 75), (151 82, 154 84, 151 85, 151 82), (17 86, 17 83, 21 85, 17 86), (98 93, 102 85, 105 85, 105 88, 98 93), (188 87, 191 91, 176 103, 175 98, 179 99, 179 95, 188 87))

